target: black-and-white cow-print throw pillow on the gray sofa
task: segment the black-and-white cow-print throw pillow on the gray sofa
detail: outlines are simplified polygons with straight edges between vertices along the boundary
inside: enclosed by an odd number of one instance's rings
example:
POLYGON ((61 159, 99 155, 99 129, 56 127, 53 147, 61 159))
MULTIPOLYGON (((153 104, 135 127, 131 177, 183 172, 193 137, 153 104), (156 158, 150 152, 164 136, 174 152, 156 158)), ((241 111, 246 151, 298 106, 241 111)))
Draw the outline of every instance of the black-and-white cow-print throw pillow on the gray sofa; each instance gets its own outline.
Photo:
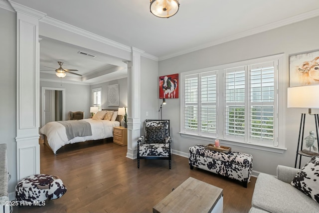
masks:
POLYGON ((311 197, 319 204, 319 157, 313 157, 297 173, 291 185, 311 197))

